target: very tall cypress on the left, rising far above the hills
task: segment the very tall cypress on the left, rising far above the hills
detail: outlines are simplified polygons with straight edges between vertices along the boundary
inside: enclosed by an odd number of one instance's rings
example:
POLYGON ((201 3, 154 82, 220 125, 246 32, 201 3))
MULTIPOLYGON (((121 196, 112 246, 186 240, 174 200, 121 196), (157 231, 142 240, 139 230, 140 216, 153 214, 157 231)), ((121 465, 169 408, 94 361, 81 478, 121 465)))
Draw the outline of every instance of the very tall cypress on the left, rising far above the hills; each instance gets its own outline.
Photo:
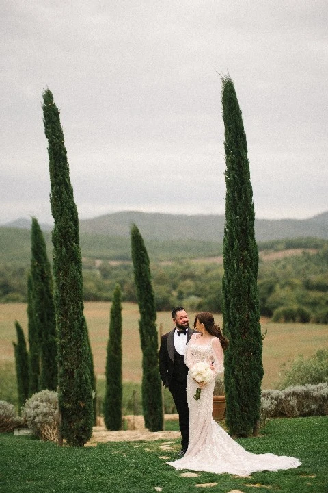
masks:
POLYGON ((53 94, 43 94, 44 130, 48 139, 53 228, 53 271, 58 331, 58 400, 61 436, 83 446, 92 435, 90 353, 83 316, 79 220, 70 183, 59 110, 53 94))

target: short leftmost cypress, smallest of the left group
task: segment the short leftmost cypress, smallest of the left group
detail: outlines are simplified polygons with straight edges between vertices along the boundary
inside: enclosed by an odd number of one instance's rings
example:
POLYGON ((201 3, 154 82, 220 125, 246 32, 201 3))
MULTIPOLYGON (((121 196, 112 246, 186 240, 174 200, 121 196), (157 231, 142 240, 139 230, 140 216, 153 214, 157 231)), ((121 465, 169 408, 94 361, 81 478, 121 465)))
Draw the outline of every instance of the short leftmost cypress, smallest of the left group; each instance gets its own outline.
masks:
POLYGON ((15 321, 17 343, 14 344, 16 378, 18 390, 18 409, 29 397, 29 355, 26 349, 25 336, 20 324, 15 321))

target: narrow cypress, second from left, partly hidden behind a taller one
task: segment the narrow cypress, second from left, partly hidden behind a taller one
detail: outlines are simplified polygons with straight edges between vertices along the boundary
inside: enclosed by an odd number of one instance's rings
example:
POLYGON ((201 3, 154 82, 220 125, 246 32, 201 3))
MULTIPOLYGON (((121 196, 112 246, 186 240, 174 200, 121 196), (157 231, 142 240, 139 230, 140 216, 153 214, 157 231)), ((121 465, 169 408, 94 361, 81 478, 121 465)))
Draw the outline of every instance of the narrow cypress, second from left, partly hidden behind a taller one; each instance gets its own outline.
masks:
POLYGON ((40 354, 36 314, 34 311, 33 279, 27 278, 27 320, 29 335, 29 397, 39 390, 40 354))

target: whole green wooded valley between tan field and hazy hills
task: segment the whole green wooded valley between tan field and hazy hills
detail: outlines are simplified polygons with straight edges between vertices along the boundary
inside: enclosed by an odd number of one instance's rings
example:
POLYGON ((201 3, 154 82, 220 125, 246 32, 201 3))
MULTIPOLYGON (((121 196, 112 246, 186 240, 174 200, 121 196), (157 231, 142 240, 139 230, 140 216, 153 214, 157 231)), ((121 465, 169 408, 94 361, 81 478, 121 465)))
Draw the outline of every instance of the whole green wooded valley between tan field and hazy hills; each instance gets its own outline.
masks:
MULTIPOLYGON (((26 301, 30 232, 0 230, 0 302, 26 301)), ((46 231, 44 236, 51 260, 51 233, 46 231)), ((157 310, 182 304, 193 310, 221 312, 221 244, 184 239, 183 235, 176 240, 145 242, 157 310)), ((328 323, 328 241, 271 240, 258 243, 258 249, 261 314, 278 322, 328 323), (273 252, 281 255, 270 256, 273 252)), ((123 301, 137 301, 128 237, 81 233, 81 251, 85 301, 111 301, 116 283, 120 283, 123 301)))

